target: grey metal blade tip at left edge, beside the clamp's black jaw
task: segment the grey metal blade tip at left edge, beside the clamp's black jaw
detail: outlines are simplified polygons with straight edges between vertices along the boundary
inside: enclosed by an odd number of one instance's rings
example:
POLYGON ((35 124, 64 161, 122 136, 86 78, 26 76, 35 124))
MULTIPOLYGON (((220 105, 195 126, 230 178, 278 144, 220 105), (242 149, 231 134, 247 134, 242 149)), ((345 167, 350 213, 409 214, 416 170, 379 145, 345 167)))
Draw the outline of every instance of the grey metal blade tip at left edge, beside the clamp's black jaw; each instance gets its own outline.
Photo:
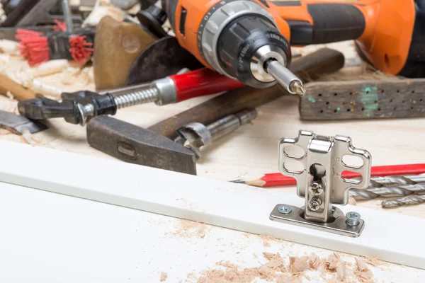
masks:
POLYGON ((42 122, 35 122, 26 117, 0 110, 0 128, 7 129, 13 134, 23 134, 26 130, 31 134, 41 132, 48 127, 42 122))

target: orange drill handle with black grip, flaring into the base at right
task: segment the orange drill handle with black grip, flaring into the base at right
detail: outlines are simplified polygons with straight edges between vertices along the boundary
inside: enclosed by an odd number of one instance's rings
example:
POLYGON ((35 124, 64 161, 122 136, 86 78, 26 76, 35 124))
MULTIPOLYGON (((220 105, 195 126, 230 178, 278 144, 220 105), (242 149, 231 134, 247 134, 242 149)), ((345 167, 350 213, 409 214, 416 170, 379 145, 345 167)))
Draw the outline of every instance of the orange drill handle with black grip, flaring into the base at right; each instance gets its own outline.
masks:
POLYGON ((375 68, 388 74, 421 73, 414 65, 423 53, 419 50, 423 50, 425 17, 421 16, 423 12, 415 4, 417 1, 269 2, 268 11, 291 45, 355 39, 361 57, 375 68), (404 69, 407 59, 409 66, 404 69))

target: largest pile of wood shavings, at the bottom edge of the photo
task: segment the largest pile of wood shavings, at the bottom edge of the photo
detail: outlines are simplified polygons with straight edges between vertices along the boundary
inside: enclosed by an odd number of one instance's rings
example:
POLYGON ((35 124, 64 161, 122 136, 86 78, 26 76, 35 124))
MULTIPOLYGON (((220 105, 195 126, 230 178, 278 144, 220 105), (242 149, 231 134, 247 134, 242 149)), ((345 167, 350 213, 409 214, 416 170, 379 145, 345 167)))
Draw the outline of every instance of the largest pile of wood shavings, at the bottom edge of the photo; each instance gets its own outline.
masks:
POLYGON ((320 258, 312 253, 310 256, 290 257, 289 265, 279 253, 263 253, 268 260, 259 267, 242 268, 229 261, 217 262, 217 268, 201 272, 198 283, 246 283, 254 279, 265 279, 269 282, 299 283, 303 278, 310 279, 305 272, 317 270, 326 282, 375 282, 367 260, 356 258, 356 266, 345 262, 337 253, 327 258, 320 258))

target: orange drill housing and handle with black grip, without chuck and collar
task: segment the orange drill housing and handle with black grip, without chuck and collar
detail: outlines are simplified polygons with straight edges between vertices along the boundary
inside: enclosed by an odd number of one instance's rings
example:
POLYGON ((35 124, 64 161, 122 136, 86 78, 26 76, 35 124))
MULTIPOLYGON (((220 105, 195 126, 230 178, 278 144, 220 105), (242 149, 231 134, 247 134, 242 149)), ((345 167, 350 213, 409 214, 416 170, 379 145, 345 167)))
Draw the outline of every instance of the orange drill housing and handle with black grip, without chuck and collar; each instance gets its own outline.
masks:
MULTIPOLYGON (((217 68, 205 59, 199 32, 216 8, 233 1, 237 0, 163 0, 179 43, 210 69, 217 68)), ((259 4, 271 15, 290 45, 356 40, 363 59, 377 69, 399 74, 407 64, 415 27, 414 0, 245 1, 259 4)))

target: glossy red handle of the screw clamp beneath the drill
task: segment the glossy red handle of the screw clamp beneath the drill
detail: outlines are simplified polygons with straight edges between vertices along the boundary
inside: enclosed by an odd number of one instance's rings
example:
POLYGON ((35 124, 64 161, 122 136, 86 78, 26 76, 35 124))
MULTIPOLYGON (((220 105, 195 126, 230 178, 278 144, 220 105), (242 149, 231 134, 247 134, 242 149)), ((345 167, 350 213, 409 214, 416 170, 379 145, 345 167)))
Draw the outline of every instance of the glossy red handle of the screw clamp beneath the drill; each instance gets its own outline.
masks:
POLYGON ((208 96, 222 91, 242 88, 240 81, 230 79, 207 68, 191 71, 186 74, 169 76, 176 84, 177 101, 181 102, 198 96, 208 96))

